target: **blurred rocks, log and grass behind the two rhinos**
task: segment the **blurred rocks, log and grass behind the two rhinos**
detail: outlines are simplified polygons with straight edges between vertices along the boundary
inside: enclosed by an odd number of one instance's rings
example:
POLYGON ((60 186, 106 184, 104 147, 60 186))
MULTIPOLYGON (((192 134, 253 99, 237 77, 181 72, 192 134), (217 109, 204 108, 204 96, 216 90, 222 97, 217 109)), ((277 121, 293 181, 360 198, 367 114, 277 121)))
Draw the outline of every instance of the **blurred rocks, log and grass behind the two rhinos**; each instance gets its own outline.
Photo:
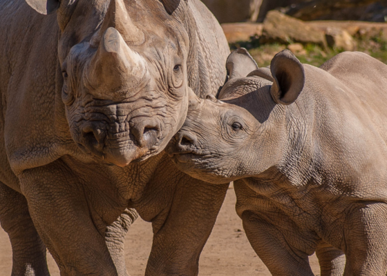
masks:
POLYGON ((387 0, 202 0, 222 23, 232 49, 245 47, 258 66, 285 48, 320 66, 343 51, 387 63, 387 0))

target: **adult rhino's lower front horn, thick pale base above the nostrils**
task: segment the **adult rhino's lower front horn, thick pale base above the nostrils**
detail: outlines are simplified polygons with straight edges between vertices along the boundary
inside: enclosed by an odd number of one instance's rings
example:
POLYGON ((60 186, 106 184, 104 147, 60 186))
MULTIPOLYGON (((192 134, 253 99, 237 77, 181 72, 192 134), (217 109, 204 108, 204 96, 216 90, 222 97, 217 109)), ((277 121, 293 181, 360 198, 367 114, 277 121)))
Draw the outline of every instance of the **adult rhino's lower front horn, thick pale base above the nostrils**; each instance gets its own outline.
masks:
POLYGON ((109 27, 88 66, 87 79, 101 99, 117 99, 117 93, 129 97, 144 81, 145 65, 144 58, 129 48, 120 32, 109 27))

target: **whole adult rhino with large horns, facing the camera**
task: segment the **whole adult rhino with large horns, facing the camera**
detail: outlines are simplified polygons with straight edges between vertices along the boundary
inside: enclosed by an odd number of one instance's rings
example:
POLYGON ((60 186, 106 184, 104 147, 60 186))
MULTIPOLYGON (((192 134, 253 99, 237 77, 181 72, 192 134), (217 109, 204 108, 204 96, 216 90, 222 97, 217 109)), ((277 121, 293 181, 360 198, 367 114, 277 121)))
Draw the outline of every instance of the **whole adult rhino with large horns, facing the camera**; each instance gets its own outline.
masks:
POLYGON ((224 83, 216 19, 198 0, 3 0, 0 26, 12 275, 48 275, 46 246, 61 275, 126 275, 136 212, 153 226, 145 274, 197 275, 227 184, 185 175, 163 149, 188 93, 224 83))

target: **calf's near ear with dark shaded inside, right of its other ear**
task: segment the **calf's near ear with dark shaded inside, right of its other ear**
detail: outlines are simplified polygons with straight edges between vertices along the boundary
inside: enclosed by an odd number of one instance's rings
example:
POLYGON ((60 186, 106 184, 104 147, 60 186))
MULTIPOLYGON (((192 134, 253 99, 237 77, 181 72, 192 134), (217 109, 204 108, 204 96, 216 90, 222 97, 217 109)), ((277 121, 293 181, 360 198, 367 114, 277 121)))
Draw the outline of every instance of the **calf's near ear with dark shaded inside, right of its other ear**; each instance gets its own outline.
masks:
POLYGON ((283 50, 274 56, 270 65, 274 82, 270 92, 276 103, 288 105, 299 97, 305 84, 305 71, 301 62, 283 50))

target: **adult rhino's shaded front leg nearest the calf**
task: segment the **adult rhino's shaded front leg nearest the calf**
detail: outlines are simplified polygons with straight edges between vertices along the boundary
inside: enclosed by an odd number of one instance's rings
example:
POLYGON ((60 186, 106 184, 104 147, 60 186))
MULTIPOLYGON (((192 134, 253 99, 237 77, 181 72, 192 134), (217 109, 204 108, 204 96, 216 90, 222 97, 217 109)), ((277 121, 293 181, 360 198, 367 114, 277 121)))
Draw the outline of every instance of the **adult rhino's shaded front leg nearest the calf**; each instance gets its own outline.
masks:
POLYGON ((211 185, 173 169, 160 168, 162 175, 149 185, 147 205, 136 208, 153 226, 147 276, 198 275, 200 253, 229 186, 211 185), (150 213, 153 219, 147 219, 150 213))

